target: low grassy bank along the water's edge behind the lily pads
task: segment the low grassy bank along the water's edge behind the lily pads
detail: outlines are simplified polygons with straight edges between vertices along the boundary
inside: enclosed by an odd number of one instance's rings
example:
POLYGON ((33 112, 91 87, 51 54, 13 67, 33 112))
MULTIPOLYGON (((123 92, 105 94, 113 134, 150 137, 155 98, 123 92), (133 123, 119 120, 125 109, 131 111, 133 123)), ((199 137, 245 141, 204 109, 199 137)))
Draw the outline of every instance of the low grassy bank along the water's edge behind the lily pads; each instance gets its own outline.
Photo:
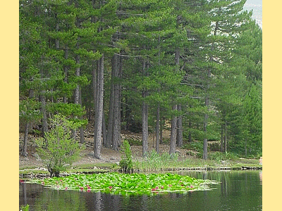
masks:
MULTIPOLYGON (((178 158, 178 156, 170 157, 169 155, 149 155, 142 160, 134 160, 133 169, 135 172, 152 172, 152 171, 179 171, 179 170, 244 170, 253 169, 260 170, 257 159, 237 160, 202 160, 200 158, 191 157, 188 159, 178 158)), ((109 162, 81 164, 70 167, 61 175, 79 174, 79 173, 99 173, 118 171, 120 167, 109 162)), ((49 172, 44 168, 34 166, 20 168, 20 177, 48 177, 49 172)))

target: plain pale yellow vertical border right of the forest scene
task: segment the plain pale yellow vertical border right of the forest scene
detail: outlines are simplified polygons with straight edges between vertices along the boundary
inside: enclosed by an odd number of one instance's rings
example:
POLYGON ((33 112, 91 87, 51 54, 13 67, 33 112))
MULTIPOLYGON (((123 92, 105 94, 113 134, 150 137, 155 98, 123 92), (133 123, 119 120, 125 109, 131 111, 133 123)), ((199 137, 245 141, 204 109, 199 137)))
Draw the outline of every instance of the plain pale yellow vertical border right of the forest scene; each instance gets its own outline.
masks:
POLYGON ((263 210, 281 209, 281 6, 263 1, 263 210))

